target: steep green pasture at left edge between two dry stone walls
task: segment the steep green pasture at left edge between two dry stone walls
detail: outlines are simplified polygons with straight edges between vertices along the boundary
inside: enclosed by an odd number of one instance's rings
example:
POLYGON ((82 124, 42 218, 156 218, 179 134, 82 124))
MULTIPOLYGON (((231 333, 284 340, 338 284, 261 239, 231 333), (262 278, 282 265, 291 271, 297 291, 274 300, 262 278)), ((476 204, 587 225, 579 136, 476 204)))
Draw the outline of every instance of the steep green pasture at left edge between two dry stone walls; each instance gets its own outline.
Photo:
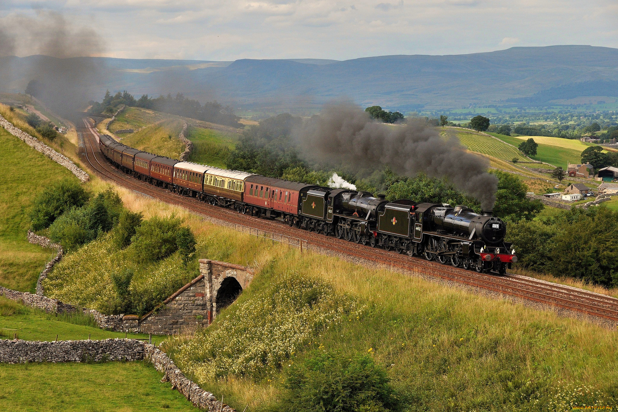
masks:
POLYGON ((0 285, 34 292, 39 273, 56 251, 26 240, 32 201, 51 183, 77 177, 4 128, 0 128, 0 175, 0 285))

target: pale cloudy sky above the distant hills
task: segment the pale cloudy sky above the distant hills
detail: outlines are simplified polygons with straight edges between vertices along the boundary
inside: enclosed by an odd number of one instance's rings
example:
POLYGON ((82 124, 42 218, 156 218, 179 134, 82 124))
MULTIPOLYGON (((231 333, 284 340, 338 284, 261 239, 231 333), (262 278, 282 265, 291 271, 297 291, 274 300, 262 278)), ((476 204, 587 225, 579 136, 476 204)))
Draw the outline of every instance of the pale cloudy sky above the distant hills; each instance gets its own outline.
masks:
POLYGON ((87 43, 98 36, 91 54, 109 57, 344 60, 551 44, 618 48, 616 0, 383 1, 0 0, 0 43, 4 31, 14 54, 38 53, 45 35, 28 38, 27 30, 61 16, 69 36, 87 43))

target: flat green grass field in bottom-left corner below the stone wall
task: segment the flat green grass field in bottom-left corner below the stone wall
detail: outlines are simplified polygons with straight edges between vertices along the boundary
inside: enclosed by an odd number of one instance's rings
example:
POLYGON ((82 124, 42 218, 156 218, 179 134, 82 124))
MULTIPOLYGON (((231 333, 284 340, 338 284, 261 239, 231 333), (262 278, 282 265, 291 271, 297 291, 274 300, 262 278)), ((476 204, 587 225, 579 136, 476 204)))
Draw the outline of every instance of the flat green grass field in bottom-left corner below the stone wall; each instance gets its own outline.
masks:
POLYGON ((195 411, 143 361, 0 364, 0 410, 195 411))

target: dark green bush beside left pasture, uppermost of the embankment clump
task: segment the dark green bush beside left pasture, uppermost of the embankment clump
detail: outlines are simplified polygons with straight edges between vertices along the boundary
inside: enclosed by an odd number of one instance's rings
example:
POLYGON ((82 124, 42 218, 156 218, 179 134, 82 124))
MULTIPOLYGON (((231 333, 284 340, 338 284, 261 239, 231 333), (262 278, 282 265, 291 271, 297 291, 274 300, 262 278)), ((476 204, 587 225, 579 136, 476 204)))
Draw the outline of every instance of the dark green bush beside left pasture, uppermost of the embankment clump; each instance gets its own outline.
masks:
POLYGON ((74 179, 54 183, 34 200, 34 208, 30 212, 32 230, 49 227, 62 213, 83 206, 88 198, 90 194, 74 179))

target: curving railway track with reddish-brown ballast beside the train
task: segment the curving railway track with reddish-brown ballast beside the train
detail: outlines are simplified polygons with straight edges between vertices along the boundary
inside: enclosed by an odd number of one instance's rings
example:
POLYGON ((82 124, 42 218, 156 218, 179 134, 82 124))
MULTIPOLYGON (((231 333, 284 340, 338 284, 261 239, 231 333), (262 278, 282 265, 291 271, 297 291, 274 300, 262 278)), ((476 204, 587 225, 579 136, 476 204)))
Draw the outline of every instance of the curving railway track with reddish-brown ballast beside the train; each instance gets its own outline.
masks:
POLYGON ((347 254, 355 258, 366 259, 384 266, 403 269, 405 271, 416 271, 424 275, 439 277, 470 287, 491 290, 492 292, 596 316, 606 321, 618 323, 618 299, 612 296, 574 290, 562 285, 548 284, 538 280, 515 277, 512 275, 497 277, 465 271, 457 267, 448 267, 420 258, 350 243, 345 240, 320 235, 314 232, 307 232, 279 222, 268 221, 266 219, 239 214, 230 209, 211 206, 195 198, 177 195, 169 190, 155 187, 117 170, 99 151, 96 138, 97 133, 93 130, 91 125, 84 120, 84 126, 79 129, 78 131, 82 132, 85 141, 85 158, 94 172, 104 179, 112 180, 127 188, 152 196, 166 203, 182 206, 189 211, 197 212, 231 224, 242 224, 265 232, 279 233, 288 237, 298 238, 307 245, 313 245, 316 248, 347 254))

